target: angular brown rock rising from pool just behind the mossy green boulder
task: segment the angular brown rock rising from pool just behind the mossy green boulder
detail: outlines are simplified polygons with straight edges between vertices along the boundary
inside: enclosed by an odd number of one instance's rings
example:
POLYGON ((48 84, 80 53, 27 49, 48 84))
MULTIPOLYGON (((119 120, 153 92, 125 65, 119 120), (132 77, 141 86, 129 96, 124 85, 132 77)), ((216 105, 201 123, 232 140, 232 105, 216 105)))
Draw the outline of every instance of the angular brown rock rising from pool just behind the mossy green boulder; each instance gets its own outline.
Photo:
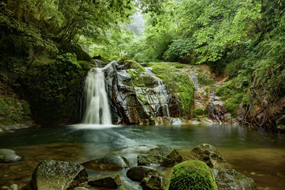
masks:
POLYGON ((227 162, 222 157, 216 147, 211 144, 200 144, 190 152, 192 159, 199 159, 205 162, 210 168, 227 168, 227 162))

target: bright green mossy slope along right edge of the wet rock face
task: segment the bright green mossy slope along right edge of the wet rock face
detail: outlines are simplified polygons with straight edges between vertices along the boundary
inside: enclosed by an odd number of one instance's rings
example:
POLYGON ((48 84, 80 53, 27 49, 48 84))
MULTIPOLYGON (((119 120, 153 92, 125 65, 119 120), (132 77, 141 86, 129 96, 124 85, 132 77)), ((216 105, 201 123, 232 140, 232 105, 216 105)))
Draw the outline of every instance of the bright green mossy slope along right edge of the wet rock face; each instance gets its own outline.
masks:
POLYGON ((180 99, 182 115, 190 117, 191 107, 194 103, 194 85, 190 78, 181 73, 177 68, 181 68, 181 63, 150 63, 152 72, 165 81, 167 88, 176 93, 180 99))

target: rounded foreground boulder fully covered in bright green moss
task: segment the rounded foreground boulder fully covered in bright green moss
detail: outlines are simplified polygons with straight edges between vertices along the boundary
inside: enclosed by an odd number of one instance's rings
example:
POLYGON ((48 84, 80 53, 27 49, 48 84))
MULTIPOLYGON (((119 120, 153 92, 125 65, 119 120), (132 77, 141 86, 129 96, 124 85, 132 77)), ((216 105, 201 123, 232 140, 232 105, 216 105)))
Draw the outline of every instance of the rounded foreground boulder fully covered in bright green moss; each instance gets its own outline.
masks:
POLYGON ((214 172, 199 160, 188 160, 172 168, 168 190, 209 189, 217 190, 214 172))

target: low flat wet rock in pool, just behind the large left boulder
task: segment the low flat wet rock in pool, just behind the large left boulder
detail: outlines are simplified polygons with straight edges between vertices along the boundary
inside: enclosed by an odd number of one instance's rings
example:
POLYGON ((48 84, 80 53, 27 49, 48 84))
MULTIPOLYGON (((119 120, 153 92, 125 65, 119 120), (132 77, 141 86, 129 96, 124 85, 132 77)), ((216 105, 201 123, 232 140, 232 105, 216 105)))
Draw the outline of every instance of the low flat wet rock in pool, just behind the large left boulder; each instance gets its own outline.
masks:
POLYGON ((83 167, 92 169, 95 171, 118 171, 130 167, 130 164, 125 157, 120 156, 109 156, 100 159, 93 159, 89 162, 85 162, 83 167))

